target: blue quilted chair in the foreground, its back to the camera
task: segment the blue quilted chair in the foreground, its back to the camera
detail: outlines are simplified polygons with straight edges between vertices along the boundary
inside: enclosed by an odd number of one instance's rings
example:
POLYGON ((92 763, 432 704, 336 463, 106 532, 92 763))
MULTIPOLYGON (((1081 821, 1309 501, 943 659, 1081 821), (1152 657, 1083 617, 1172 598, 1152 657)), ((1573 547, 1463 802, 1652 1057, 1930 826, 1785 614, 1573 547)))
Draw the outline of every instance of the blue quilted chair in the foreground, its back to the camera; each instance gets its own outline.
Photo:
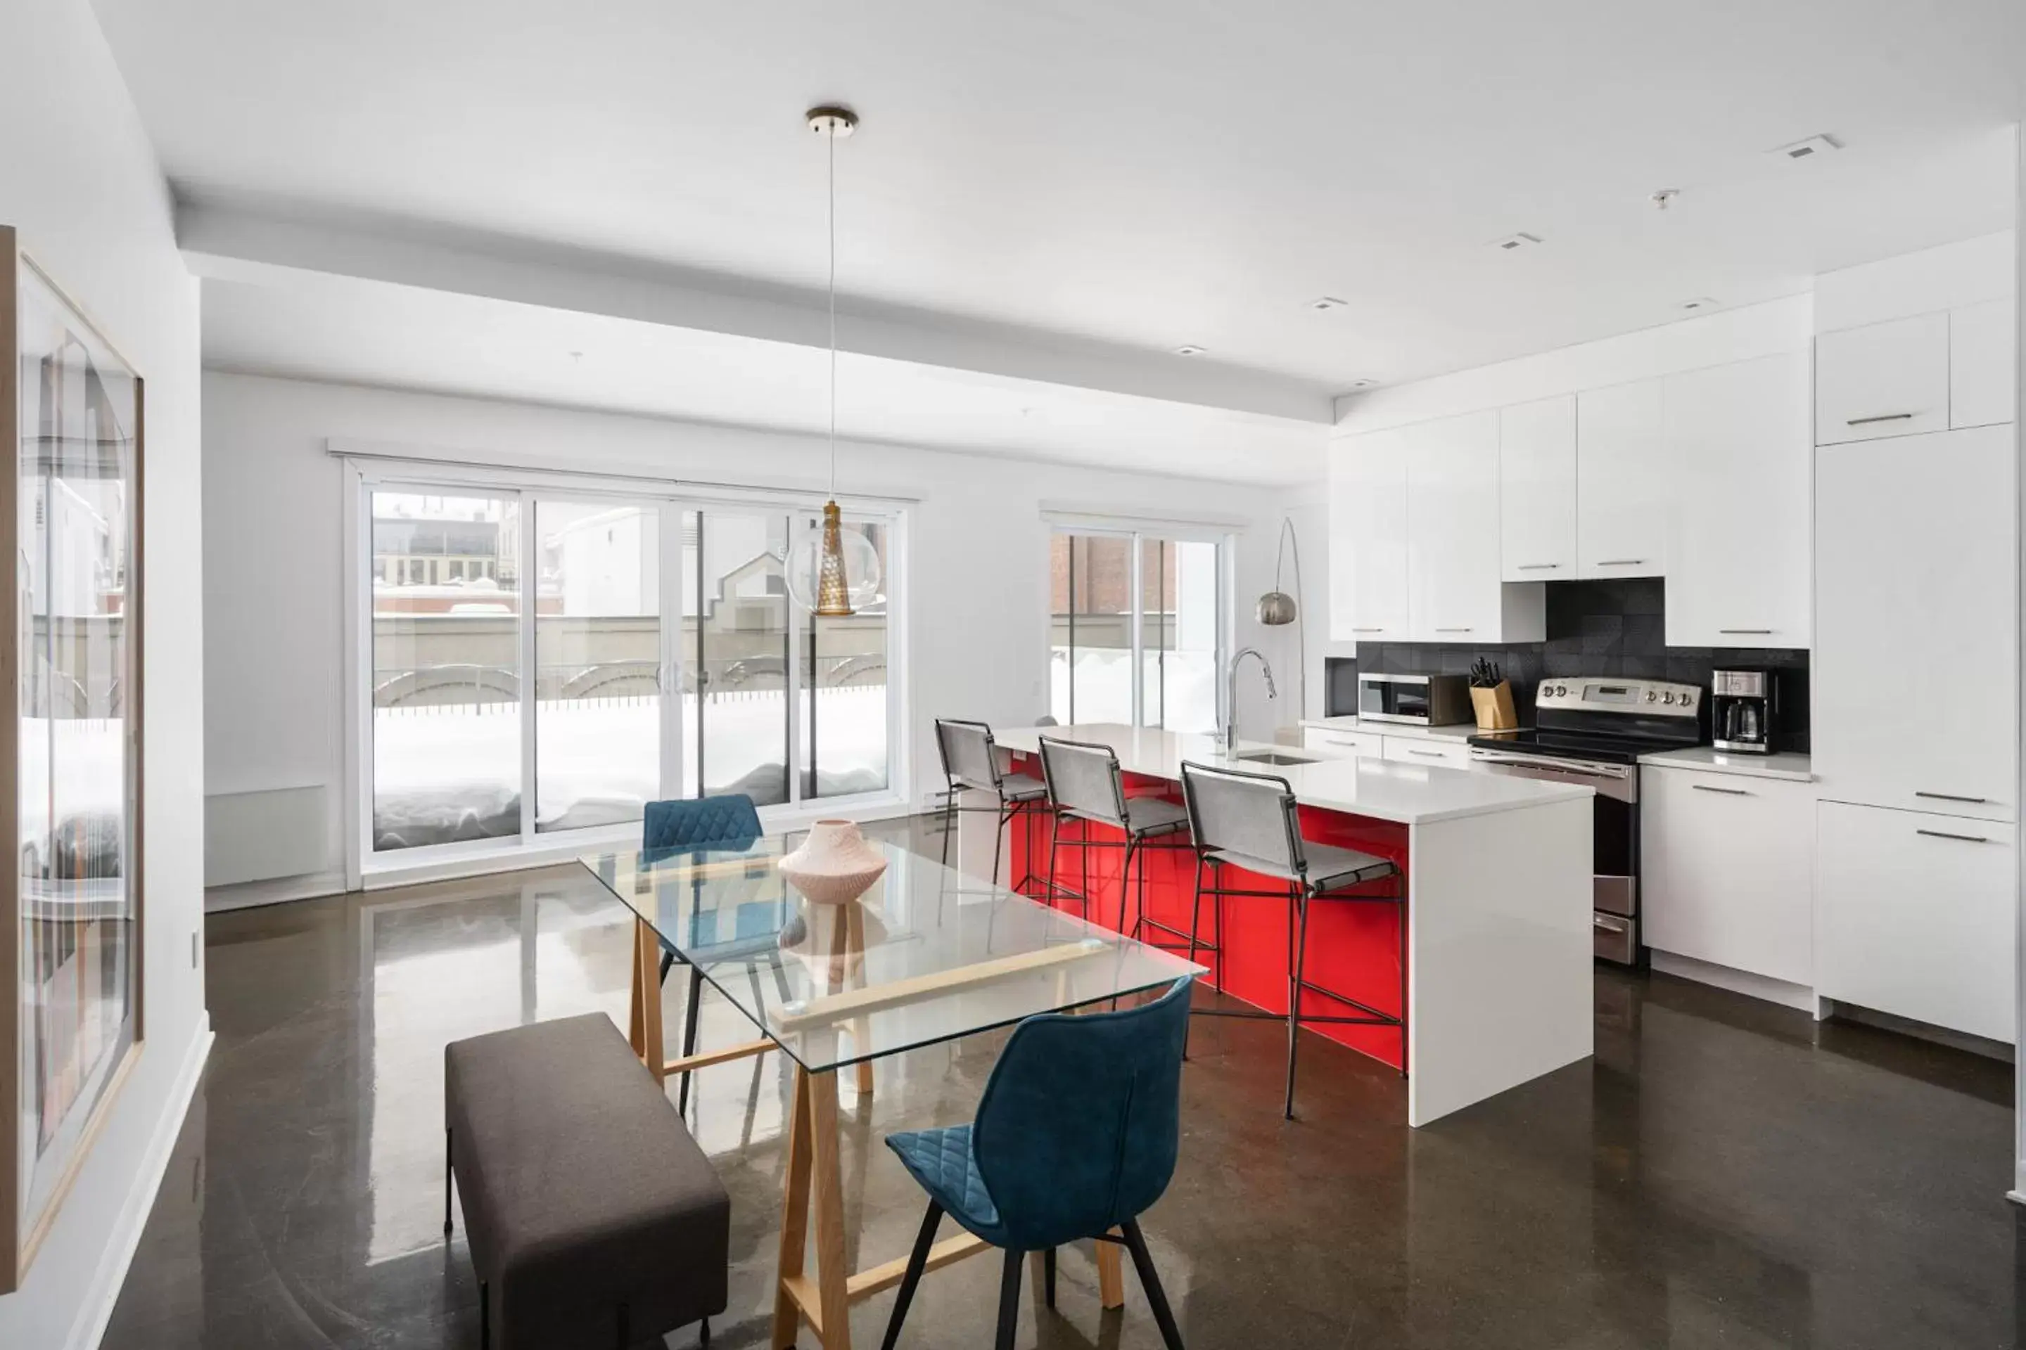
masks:
POLYGON ((1019 1322, 1021 1257, 1043 1253, 1054 1307, 1056 1249, 1120 1241, 1112 1229, 1133 1253, 1161 1340, 1181 1350, 1139 1216, 1175 1174, 1189 984, 1177 980, 1155 1002, 1120 1012, 1027 1018, 993 1067, 972 1123, 887 1135, 887 1148, 928 1192, 928 1216, 908 1257, 885 1350, 900 1340, 944 1214, 1005 1249, 999 1350, 1013 1346, 1019 1322))

